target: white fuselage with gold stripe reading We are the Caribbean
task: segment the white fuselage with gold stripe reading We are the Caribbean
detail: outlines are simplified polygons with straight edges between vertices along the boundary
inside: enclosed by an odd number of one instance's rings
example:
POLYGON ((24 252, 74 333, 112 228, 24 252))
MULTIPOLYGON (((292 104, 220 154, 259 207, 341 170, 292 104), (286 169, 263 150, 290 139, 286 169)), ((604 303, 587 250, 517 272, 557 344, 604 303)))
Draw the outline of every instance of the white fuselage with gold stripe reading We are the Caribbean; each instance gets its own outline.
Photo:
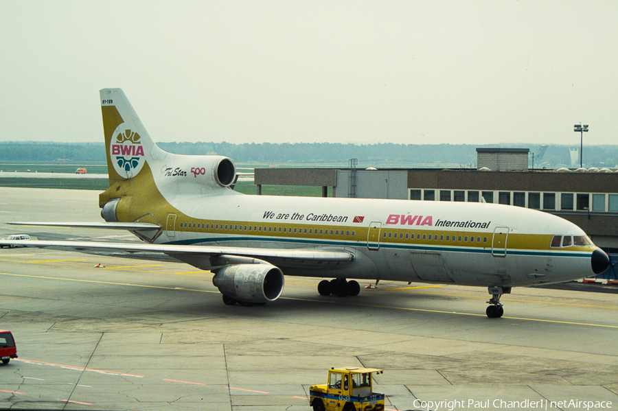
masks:
POLYGON ((323 270, 279 263, 288 275, 505 287, 593 275, 593 246, 550 248, 553 235, 585 236, 580 228, 520 207, 246 196, 229 189, 168 201, 180 213, 158 243, 345 248, 356 257, 323 270))

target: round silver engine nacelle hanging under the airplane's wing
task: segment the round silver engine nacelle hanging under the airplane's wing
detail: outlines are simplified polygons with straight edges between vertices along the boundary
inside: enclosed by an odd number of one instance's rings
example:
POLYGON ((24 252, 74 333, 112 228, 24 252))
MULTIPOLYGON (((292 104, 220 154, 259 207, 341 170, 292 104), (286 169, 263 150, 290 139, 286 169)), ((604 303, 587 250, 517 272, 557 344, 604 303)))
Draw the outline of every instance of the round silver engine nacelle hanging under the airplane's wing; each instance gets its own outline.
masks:
POLYGON ((234 264, 221 268, 212 283, 224 296, 244 303, 268 303, 281 295, 284 274, 271 264, 234 264))

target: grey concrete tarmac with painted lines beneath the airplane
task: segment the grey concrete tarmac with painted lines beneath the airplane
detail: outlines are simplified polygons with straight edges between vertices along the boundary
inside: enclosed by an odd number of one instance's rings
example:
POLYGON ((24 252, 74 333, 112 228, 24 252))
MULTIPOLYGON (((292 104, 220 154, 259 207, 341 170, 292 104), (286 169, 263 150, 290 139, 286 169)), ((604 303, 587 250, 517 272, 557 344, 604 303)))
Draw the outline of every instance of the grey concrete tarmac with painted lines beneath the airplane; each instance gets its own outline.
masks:
MULTIPOLYGON (((128 233, 10 226, 101 221, 98 192, 0 187, 0 235, 135 241, 128 233)), ((380 282, 323 297, 286 277, 262 307, 227 306, 183 263, 0 250, 0 409, 310 410, 328 368, 382 368, 386 410, 618 410, 618 288, 486 289, 380 282), (99 266, 99 267, 96 267, 99 266), (428 401, 431 401, 428 402, 428 401), (590 401, 590 402, 588 402, 590 401)), ((598 286, 597 286, 598 287, 598 286)))

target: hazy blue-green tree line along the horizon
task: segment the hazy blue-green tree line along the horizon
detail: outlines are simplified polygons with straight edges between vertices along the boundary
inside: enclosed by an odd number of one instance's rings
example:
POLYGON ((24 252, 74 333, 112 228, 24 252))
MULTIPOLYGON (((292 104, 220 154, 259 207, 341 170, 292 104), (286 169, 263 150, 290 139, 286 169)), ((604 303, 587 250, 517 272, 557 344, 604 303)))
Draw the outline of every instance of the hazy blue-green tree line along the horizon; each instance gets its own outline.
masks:
MULTIPOLYGON (((286 164, 336 165, 347 167, 350 158, 358 159, 359 167, 389 167, 409 165, 433 167, 473 167, 477 162, 476 148, 496 145, 472 144, 396 144, 376 143, 158 143, 175 154, 218 154, 236 163, 268 165, 286 164)), ((535 168, 571 167, 572 156, 567 145, 501 145, 499 147, 529 148, 530 164, 534 153, 535 168)), ((577 165, 579 164, 579 157, 577 165)), ((586 167, 615 167, 618 146, 584 147, 586 167)), ((103 143, 54 143, 33 141, 0 141, 0 161, 50 163, 104 163, 103 143)))

